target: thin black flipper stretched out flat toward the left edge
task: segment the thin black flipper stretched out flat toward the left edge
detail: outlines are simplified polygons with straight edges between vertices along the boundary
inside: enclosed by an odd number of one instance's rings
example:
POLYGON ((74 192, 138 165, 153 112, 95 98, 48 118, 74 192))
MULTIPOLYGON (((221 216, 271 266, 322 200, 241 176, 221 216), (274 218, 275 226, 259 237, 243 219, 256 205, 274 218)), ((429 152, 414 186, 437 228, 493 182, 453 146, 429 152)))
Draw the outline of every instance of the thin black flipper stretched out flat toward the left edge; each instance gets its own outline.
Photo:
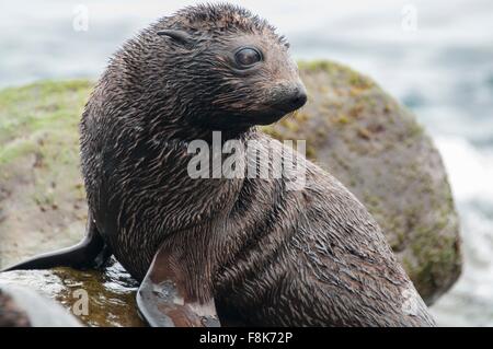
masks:
POLYGON ((1 271, 49 269, 55 267, 72 267, 76 269, 99 268, 111 256, 95 223, 88 217, 87 234, 77 245, 51 253, 35 256, 31 259, 8 267, 1 271))

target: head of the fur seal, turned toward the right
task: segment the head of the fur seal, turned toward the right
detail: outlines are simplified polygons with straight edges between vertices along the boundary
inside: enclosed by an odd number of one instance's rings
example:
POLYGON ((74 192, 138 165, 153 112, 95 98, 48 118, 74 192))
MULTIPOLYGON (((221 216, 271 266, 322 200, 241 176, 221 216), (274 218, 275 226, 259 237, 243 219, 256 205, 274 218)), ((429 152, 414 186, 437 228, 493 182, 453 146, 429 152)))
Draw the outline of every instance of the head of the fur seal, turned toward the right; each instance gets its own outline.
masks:
MULTIPOLYGON (((142 71, 140 93, 172 104, 169 121, 180 117, 173 121, 244 129, 274 123, 306 103, 288 48, 272 25, 248 10, 204 4, 159 20, 121 55, 130 66, 126 73, 142 71)), ((152 109, 162 110, 156 103, 152 109)))

